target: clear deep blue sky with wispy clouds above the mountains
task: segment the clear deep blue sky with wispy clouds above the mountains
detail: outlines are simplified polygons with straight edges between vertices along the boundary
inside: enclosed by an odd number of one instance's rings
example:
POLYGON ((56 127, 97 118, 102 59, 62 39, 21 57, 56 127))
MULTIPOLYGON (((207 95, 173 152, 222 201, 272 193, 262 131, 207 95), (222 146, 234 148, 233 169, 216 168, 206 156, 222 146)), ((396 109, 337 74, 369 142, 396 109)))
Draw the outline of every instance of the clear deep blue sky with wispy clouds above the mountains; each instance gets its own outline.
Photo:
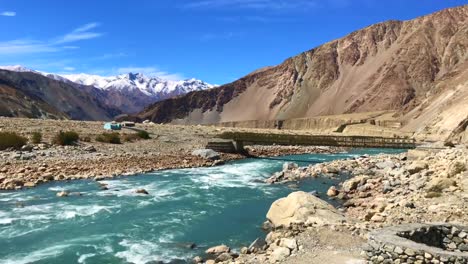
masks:
POLYGON ((462 0, 0 0, 0 65, 231 82, 365 26, 462 0))

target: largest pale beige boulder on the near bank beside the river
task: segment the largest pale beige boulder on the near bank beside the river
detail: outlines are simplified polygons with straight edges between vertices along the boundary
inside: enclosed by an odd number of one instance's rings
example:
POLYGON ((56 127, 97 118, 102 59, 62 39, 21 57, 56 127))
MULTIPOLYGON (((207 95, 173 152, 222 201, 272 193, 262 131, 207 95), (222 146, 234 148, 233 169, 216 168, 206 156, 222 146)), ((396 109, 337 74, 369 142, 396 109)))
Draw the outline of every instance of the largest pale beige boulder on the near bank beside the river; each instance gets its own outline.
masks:
POLYGON ((275 201, 267 213, 274 227, 291 224, 336 224, 345 217, 333 206, 306 192, 293 192, 275 201))

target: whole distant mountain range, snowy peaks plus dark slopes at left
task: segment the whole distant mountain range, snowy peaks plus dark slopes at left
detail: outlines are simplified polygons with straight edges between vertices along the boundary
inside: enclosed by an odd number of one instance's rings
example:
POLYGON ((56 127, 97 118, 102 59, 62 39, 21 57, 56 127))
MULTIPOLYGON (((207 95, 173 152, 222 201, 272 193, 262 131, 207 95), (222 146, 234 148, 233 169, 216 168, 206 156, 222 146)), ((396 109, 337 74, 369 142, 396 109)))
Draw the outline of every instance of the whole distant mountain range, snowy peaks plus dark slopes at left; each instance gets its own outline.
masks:
MULTIPOLYGON (((0 115, 3 116, 107 120, 112 119, 117 114, 139 112, 146 106, 160 100, 215 87, 197 79, 173 81, 148 77, 141 73, 102 77, 89 74, 58 75, 35 71, 23 66, 0 66, 0 70, 2 70, 0 85, 2 83, 8 84, 9 87, 9 93, 0 94, 0 102, 5 100, 0 106, 0 115), (11 73, 12 76, 8 76, 8 73, 11 73), (28 82, 31 80, 34 81, 28 82), (24 96, 28 100, 16 98, 19 94, 15 95, 12 92, 24 92, 25 83, 28 83, 28 87, 24 96), (48 87, 41 86, 46 83, 49 83, 48 87), (68 96, 77 95, 80 98, 95 101, 97 103, 95 107, 100 110, 92 110, 93 107, 91 107, 73 112, 67 110, 66 107, 56 105, 55 101, 49 101, 49 97, 53 100, 54 95, 46 95, 49 90, 51 91, 51 86, 66 87, 70 91, 77 90, 68 96), (34 94, 34 96, 28 96, 30 94, 34 94), (39 94, 43 96, 38 96, 39 94), (42 101, 37 101, 39 98, 42 101), (53 107, 54 105, 55 107, 53 107), (89 113, 87 113, 88 110, 89 113)), ((6 87, 4 89, 6 90, 6 87)), ((78 103, 79 99, 74 98, 74 101, 78 103)), ((86 105, 89 102, 79 103, 86 105)), ((72 102, 64 104, 74 106, 72 102)))

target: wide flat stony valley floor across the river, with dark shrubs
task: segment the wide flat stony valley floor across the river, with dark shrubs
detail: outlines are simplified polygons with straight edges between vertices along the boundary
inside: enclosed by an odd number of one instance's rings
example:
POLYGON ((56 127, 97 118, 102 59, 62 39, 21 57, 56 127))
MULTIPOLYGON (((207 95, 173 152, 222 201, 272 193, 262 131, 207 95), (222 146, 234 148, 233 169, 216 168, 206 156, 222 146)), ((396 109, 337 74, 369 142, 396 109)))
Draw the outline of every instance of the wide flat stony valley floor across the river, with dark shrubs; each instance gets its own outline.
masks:
MULTIPOLYGON (((151 139, 106 144, 96 142, 104 132, 103 122, 0 118, 0 132, 16 132, 31 137, 43 135, 42 143, 22 150, 0 151, 0 189, 21 189, 54 180, 102 179, 118 175, 174 169, 213 166, 220 161, 191 155, 205 148, 208 141, 222 131, 254 131, 254 129, 215 128, 210 126, 174 126, 137 124, 118 131, 121 138, 145 130, 151 139), (136 130, 135 130, 136 129, 136 130), (60 131, 75 131, 80 136, 76 146, 55 146, 51 142, 60 131)), ((284 131, 284 133, 291 133, 284 131)), ((258 156, 277 156, 330 151, 317 147, 256 147, 258 156)), ((221 161, 243 158, 237 154, 221 154, 221 161)))

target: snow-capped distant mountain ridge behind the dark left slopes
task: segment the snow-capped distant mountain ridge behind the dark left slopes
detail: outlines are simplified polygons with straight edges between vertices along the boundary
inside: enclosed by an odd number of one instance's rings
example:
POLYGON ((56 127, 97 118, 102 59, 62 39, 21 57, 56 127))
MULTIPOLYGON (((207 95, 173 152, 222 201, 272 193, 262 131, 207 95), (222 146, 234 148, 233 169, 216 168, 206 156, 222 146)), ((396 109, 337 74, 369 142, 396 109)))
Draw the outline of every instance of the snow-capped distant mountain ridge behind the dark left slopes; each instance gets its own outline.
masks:
POLYGON ((84 73, 63 75, 46 73, 20 65, 0 66, 0 69, 41 74, 50 79, 74 85, 87 93, 96 94, 97 91, 94 89, 96 88, 106 105, 116 107, 123 113, 136 113, 161 100, 215 87, 197 79, 174 81, 149 77, 141 73, 104 77, 84 73))

